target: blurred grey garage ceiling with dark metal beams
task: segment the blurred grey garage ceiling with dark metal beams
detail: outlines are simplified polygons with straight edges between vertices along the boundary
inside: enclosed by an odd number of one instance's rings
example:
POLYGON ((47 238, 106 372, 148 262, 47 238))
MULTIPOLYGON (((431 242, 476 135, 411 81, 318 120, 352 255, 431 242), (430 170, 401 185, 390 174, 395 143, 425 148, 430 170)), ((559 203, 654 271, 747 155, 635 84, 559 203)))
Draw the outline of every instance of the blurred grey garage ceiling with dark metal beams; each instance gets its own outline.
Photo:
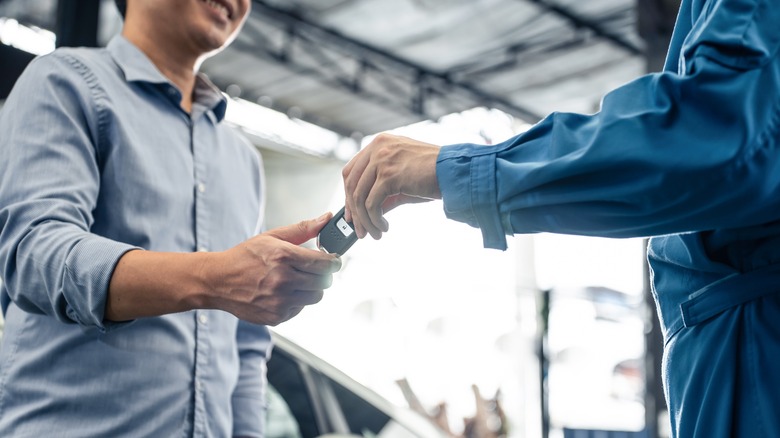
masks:
MULTIPOLYGON (((120 26, 112 3, 100 3, 98 44, 120 26)), ((346 136, 480 106, 527 122, 593 112, 646 69, 636 0, 252 3, 241 35, 203 71, 233 96, 346 136)), ((56 9, 0 0, 0 16, 53 30, 56 9)))

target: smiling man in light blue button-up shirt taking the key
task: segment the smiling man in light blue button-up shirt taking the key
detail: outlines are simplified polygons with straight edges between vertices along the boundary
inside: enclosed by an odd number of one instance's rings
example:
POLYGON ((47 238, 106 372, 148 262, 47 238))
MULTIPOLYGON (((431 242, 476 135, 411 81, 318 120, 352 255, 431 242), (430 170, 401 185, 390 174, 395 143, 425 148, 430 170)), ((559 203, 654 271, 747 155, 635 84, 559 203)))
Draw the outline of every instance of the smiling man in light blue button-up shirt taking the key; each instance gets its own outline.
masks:
POLYGON ((265 324, 319 301, 329 219, 255 236, 256 151, 202 60, 249 0, 130 0, 0 112, 0 436, 262 436, 265 324), (255 237, 252 237, 255 236, 255 237))

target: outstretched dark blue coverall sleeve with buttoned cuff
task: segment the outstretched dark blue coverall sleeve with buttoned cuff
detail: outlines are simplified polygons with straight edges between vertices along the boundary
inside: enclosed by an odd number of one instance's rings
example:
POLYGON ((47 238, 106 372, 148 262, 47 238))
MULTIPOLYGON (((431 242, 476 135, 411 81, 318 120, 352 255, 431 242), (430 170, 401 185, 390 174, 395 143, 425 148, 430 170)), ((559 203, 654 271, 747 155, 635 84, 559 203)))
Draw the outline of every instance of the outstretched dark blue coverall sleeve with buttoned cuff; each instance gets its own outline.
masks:
POLYGON ((443 147, 447 216, 498 249, 512 233, 639 237, 780 218, 780 8, 703 8, 678 72, 614 90, 596 114, 553 113, 495 146, 443 147))

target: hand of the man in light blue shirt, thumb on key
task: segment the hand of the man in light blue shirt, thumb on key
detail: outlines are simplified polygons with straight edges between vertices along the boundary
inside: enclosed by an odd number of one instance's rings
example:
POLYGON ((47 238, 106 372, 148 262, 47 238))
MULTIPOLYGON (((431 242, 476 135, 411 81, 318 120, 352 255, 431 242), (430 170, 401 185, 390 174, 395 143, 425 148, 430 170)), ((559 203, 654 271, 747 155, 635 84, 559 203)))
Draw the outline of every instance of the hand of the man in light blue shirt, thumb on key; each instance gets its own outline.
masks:
POLYGON ((215 308, 256 324, 277 325, 319 302, 341 269, 341 259, 300 244, 314 238, 330 220, 279 227, 255 236, 217 257, 215 308))

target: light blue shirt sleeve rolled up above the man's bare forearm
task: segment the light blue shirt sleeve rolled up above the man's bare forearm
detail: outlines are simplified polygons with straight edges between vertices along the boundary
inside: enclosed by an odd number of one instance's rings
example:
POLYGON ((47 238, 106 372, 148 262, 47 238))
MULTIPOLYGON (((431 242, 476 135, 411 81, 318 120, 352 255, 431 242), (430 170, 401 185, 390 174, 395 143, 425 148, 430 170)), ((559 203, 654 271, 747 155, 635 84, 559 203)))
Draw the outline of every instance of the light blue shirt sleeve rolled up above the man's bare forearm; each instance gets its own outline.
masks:
POLYGON ((108 284, 133 249, 90 233, 100 190, 100 89, 74 57, 34 60, 0 113, 3 308, 107 330, 108 284))

